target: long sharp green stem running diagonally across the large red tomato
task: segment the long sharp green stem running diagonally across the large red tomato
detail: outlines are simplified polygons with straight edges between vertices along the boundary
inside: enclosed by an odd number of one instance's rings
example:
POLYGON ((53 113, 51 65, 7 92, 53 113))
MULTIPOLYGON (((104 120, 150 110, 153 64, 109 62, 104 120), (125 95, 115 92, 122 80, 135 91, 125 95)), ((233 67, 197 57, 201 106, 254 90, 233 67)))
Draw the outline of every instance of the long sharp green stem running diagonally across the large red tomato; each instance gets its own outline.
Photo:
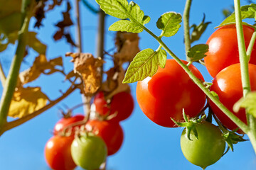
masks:
POLYGON ((164 50, 166 50, 166 52, 169 53, 169 55, 171 55, 171 57, 174 58, 174 60, 176 60, 176 62, 178 62, 178 64, 181 65, 181 67, 185 70, 185 72, 188 74, 188 76, 194 81, 195 84, 198 85, 198 87, 206 94, 206 96, 208 96, 208 98, 210 98, 211 101, 213 101, 213 103, 215 103, 216 106, 218 106, 218 108, 220 108, 221 111, 223 111, 225 113, 225 115, 228 116, 228 118, 230 118, 231 120, 233 120, 233 122, 235 124, 237 124, 239 126, 239 128, 241 128, 241 130, 245 133, 248 132, 248 126, 243 123, 238 117, 236 117, 232 112, 230 112, 228 110, 228 108, 226 108, 225 106, 223 106, 223 104, 218 100, 218 98, 215 98, 215 96, 213 96, 213 94, 210 93, 210 91, 206 88, 206 86, 203 85, 203 83, 201 82, 200 79, 198 79, 192 72, 190 69, 188 69, 187 65, 184 64, 175 54, 174 52, 172 52, 169 47, 166 46, 166 44, 161 40, 161 38, 157 37, 156 35, 154 35, 154 33, 152 33, 149 29, 147 29, 146 27, 142 26, 141 27, 146 30, 147 33, 149 33, 152 37, 154 37, 159 44, 164 48, 164 50))

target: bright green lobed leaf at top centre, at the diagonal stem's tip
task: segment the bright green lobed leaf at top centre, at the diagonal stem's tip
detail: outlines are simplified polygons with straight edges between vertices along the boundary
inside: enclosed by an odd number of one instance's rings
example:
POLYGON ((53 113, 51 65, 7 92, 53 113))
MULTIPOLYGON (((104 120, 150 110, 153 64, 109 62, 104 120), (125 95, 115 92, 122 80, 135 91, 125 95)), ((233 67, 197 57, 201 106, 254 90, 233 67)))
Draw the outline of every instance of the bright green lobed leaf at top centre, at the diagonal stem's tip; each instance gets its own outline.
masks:
POLYGON ((142 26, 150 21, 149 16, 144 16, 144 12, 133 1, 129 4, 127 0, 96 0, 96 2, 110 16, 129 19, 129 21, 117 21, 110 26, 110 30, 140 33, 143 30, 142 26))

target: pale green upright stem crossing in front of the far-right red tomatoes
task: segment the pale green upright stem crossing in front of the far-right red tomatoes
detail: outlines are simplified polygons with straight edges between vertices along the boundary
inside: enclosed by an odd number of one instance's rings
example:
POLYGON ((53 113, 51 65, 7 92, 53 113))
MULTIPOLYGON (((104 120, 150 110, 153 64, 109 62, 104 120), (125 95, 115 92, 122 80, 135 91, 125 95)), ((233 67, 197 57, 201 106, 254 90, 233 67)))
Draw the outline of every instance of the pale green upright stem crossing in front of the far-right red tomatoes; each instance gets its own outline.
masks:
MULTIPOLYGON (((242 16, 241 16, 241 10, 240 10, 240 0, 234 0, 234 6, 235 6, 235 24, 236 24, 237 34, 238 34, 238 50, 239 50, 239 60, 240 60, 242 89, 243 89, 242 94, 243 96, 246 96, 251 91, 251 89, 250 89, 248 59, 247 59, 247 53, 245 48, 245 39, 242 31, 242 16)), ((253 46, 252 40, 250 42, 251 46, 253 46)), ((250 50, 248 51, 248 53, 249 52, 250 50)), ((250 138, 250 142, 252 143, 252 147, 255 149, 255 153, 256 153, 256 119, 248 113, 246 113, 246 115, 247 115, 247 123, 249 126, 249 130, 246 133, 250 138)))

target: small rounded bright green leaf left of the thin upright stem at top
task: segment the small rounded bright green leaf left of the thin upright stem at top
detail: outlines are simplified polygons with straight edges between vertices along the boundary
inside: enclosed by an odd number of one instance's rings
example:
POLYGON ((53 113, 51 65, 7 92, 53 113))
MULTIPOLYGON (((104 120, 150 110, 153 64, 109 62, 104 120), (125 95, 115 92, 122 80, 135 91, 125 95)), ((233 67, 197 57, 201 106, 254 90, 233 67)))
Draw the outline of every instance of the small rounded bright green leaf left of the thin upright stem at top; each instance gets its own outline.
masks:
POLYGON ((163 30, 162 35, 165 37, 171 37, 178 32, 178 28, 181 27, 181 14, 175 12, 164 13, 160 16, 156 22, 157 28, 163 30))

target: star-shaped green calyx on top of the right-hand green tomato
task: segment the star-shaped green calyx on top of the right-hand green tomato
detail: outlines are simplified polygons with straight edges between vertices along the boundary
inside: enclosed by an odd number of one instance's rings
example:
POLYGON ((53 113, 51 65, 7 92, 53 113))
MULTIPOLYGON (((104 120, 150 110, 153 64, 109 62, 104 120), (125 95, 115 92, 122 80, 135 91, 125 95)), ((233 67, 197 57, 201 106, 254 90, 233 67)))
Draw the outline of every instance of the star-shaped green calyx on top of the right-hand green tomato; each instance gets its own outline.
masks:
POLYGON ((176 120, 174 120, 173 118, 171 118, 171 120, 174 121, 174 123, 180 127, 185 127, 186 128, 186 137, 188 138, 188 140, 191 140, 191 132, 193 132, 193 134, 195 135, 196 139, 198 140, 198 132, 196 130, 196 125, 198 123, 201 123, 203 120, 205 120, 206 115, 203 115, 201 118, 198 119, 188 119, 188 116, 185 114, 185 111, 183 109, 182 111, 183 114, 183 118, 185 120, 185 122, 183 123, 178 123, 176 120))

